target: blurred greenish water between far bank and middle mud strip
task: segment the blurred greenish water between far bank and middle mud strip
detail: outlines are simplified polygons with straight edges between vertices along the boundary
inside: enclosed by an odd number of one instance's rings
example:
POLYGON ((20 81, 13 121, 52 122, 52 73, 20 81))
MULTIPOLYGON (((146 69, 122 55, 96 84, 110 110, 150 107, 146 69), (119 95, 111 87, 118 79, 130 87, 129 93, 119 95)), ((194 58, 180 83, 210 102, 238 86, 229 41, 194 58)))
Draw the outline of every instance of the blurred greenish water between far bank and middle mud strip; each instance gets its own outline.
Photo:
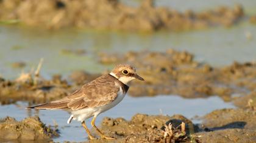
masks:
POLYGON ((77 69, 101 73, 111 67, 98 64, 99 52, 164 51, 168 48, 187 50, 195 55, 197 61, 215 66, 229 65, 233 61, 256 61, 255 33, 256 26, 247 22, 231 28, 154 34, 76 29, 49 32, 0 27, 0 74, 16 78, 21 69, 12 68, 13 62, 25 62, 27 66, 24 70, 30 71, 31 67, 37 66, 40 58, 44 58, 41 73, 46 77, 54 73, 68 75, 77 69), (246 33, 251 33, 252 39, 247 39, 246 33), (84 49, 86 53, 63 53, 66 49, 84 49))

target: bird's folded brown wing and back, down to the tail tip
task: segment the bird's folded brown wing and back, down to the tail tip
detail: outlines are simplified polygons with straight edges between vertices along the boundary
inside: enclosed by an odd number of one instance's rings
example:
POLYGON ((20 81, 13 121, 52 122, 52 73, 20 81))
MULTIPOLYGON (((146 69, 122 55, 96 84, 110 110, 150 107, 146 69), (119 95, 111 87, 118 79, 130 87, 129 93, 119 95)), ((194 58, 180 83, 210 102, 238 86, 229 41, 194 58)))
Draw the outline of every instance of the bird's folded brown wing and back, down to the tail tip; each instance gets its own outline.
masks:
MULTIPOLYGON (((52 101, 49 104, 35 106, 38 109, 79 110, 87 107, 98 107, 109 104, 118 96, 119 87, 113 77, 103 75, 83 85, 69 96, 52 101)), ((33 107, 32 107, 33 108, 33 107)))

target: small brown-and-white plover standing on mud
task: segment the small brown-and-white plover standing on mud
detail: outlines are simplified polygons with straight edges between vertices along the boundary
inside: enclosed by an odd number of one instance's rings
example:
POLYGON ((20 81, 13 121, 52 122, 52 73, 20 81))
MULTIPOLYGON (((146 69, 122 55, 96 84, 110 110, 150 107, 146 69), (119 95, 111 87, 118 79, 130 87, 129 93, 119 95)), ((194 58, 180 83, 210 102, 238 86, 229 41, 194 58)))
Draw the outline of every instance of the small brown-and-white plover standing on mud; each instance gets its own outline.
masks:
POLYGON ((118 64, 110 73, 99 76, 99 78, 82 85, 78 90, 70 95, 49 103, 27 107, 38 110, 66 110, 71 115, 67 121, 79 121, 87 132, 88 139, 95 139, 91 135, 85 121, 93 117, 91 126, 96 130, 101 138, 115 139, 104 135, 95 125, 95 120, 99 114, 121 102, 129 90, 130 81, 138 79, 144 81, 136 73, 135 67, 129 64, 118 64))

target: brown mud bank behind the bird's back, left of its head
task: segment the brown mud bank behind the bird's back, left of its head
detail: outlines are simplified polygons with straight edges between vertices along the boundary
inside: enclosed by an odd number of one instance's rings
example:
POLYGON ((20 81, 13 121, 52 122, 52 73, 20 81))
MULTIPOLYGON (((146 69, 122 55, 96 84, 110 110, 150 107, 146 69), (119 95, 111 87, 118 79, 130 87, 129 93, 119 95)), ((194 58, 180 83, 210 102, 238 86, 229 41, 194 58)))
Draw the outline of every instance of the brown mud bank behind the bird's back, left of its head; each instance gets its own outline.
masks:
POLYGON ((38 104, 60 99, 98 76, 85 71, 74 71, 68 79, 72 84, 68 84, 61 75, 44 79, 39 73, 21 73, 15 80, 0 78, 0 103, 4 105, 16 101, 29 101, 38 104))

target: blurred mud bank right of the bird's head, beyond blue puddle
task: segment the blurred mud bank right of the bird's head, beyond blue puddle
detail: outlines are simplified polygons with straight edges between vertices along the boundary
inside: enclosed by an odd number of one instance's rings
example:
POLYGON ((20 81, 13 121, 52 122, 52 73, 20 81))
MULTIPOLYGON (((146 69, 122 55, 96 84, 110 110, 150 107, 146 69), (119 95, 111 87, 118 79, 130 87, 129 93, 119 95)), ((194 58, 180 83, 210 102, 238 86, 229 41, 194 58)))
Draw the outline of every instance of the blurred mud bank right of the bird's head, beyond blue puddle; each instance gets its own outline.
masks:
POLYGON ((132 96, 180 95, 198 98, 218 95, 230 101, 234 95, 246 95, 256 87, 256 64, 247 62, 215 68, 194 61, 188 52, 128 52, 124 55, 101 53, 102 64, 128 62, 145 82, 133 82, 132 96), (108 58, 110 57, 110 58, 108 58))

